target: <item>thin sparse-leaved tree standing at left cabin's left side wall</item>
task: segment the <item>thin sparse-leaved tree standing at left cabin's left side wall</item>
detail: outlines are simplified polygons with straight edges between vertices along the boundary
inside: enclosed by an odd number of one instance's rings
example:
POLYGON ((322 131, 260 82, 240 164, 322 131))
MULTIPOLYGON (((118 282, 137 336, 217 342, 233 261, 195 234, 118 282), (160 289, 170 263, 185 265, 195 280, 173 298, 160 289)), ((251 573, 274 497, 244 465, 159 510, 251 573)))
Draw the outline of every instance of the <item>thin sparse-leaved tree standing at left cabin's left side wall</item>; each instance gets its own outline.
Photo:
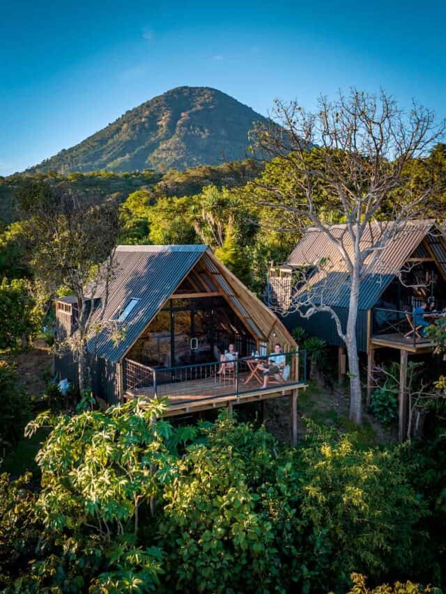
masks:
POLYGON ((109 281, 114 273, 118 209, 100 196, 43 182, 26 184, 19 195, 32 233, 32 265, 49 299, 61 288, 76 299, 75 331, 59 336, 56 347, 69 347, 78 364, 79 390, 89 386, 87 343, 103 324, 109 281), (98 313, 97 307, 100 307, 98 313))

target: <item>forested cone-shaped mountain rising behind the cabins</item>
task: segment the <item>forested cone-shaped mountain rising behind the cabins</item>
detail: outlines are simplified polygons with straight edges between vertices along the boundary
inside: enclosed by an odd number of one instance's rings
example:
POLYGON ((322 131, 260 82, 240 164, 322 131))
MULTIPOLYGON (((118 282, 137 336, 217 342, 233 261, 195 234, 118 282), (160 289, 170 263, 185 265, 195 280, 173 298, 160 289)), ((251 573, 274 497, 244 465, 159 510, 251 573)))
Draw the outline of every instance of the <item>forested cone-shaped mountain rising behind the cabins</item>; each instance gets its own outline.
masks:
POLYGON ((253 109, 209 87, 180 86, 26 173, 187 169, 244 159, 248 132, 266 122, 253 109))

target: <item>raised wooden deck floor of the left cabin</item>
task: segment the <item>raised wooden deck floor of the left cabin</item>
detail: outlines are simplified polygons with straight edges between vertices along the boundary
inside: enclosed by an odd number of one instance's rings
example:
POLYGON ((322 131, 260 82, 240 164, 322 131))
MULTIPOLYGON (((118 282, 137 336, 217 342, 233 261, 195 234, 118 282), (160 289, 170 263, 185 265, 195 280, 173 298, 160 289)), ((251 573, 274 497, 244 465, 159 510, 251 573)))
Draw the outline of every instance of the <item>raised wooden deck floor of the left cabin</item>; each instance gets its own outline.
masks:
MULTIPOLYGON (((233 378, 208 377, 204 380, 192 380, 175 382, 172 384, 161 384, 157 387, 157 397, 167 398, 169 410, 164 416, 197 412, 200 410, 227 407, 230 404, 242 404, 254 400, 266 400, 279 398, 280 396, 291 396, 293 390, 305 388, 302 382, 287 382, 282 384, 271 381, 266 389, 262 389, 256 380, 245 384, 247 374, 240 374, 238 394, 233 378)), ((139 388, 128 390, 125 398, 153 398, 153 388, 139 388)))

